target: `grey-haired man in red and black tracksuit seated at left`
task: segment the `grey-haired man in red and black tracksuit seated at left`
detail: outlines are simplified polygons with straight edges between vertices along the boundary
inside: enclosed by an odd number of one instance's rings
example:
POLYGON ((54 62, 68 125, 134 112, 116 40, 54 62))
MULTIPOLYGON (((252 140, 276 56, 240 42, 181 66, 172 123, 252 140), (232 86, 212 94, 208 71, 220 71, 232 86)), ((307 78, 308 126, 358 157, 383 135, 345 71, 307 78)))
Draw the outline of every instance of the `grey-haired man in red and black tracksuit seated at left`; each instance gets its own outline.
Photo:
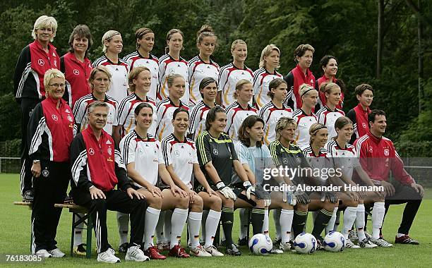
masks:
POLYGON ((108 243, 107 209, 131 214, 131 243, 125 260, 143 262, 149 260, 140 250, 148 206, 144 195, 129 183, 120 152, 112 137, 103 130, 108 109, 104 102, 92 102, 88 107, 88 128, 73 139, 71 196, 77 205, 87 207, 92 214, 98 262, 120 262, 108 243), (114 189, 117 184, 119 190, 114 189))

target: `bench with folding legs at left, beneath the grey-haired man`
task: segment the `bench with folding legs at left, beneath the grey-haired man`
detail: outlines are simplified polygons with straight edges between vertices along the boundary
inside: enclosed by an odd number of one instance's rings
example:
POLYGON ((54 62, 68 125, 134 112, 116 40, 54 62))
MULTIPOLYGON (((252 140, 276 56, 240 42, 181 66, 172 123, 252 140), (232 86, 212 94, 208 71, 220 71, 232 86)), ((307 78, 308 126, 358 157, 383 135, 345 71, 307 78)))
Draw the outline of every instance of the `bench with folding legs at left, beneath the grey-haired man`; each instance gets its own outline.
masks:
MULTIPOLYGON (((17 206, 27 206, 28 209, 32 209, 32 203, 31 202, 23 202, 23 201, 16 201, 13 202, 13 205, 17 206)), ((92 257, 92 218, 90 217, 90 214, 88 214, 88 209, 85 207, 81 207, 78 205, 75 205, 73 203, 68 204, 55 204, 54 207, 58 207, 61 209, 69 209, 69 212, 72 213, 72 231, 71 231, 71 257, 73 257, 73 241, 74 241, 74 229, 79 228, 78 225, 83 223, 86 227, 82 229, 86 229, 87 233, 87 243, 86 243, 86 252, 85 257, 90 258, 92 257), (80 214, 84 214, 82 217, 80 214), (75 221, 75 219, 78 220, 75 221)), ((30 252, 32 252, 32 243, 33 243, 33 233, 31 229, 31 223, 30 223, 30 252)))

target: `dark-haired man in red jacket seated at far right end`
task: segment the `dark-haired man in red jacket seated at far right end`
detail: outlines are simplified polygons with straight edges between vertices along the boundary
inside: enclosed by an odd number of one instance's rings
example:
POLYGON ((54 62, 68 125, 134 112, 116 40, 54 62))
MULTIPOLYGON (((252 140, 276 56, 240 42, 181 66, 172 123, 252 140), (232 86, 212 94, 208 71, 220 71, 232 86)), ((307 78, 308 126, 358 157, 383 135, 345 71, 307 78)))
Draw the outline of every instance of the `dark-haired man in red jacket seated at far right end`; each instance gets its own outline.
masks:
POLYGON ((373 183, 382 185, 385 194, 385 213, 390 205, 407 203, 395 243, 418 245, 408 233, 419 210, 424 190, 404 169, 404 163, 393 142, 383 137, 387 121, 385 112, 372 110, 368 114, 369 131, 354 142, 360 163, 373 183), (390 171, 395 181, 390 181, 390 171))

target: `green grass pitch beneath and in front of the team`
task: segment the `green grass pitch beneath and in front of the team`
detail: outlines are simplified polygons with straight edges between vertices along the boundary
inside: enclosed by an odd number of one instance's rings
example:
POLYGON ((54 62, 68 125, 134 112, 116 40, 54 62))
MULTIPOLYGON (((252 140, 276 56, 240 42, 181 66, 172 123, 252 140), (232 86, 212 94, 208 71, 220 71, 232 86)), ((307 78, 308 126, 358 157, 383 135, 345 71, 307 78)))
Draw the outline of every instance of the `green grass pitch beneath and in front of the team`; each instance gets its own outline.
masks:
MULTIPOLYGON (((0 254, 29 254, 30 242, 30 210, 27 207, 14 206, 13 201, 19 201, 19 176, 18 174, 0 174, 0 254)), ((429 267, 432 265, 432 192, 429 190, 417 214, 410 235, 419 240, 421 245, 395 245, 394 248, 378 249, 347 249, 341 253, 316 252, 313 255, 298 255, 286 252, 283 255, 252 256, 246 248, 241 257, 212 257, 211 259, 199 259, 191 257, 188 260, 178 260, 168 257, 164 261, 150 261, 145 263, 125 262, 124 255, 120 255, 122 262, 117 266, 149 266, 152 267, 429 267)), ((390 207, 390 212, 385 219, 384 236, 389 242, 394 241, 395 232, 400 224, 404 205, 390 207)), ((272 221, 272 217, 270 217, 272 221)), ((311 228, 312 224, 308 224, 311 228)), ((368 224, 369 226, 371 224, 368 224)), ((108 214, 109 242, 112 245, 119 244, 119 236, 116 231, 116 218, 114 212, 108 214)), ((234 224, 234 239, 238 237, 238 218, 234 224)), ((57 230, 58 246, 64 252, 68 252, 71 237, 71 214, 64 210, 61 215, 59 229, 57 230)), ((310 231, 310 230, 309 230, 310 231)), ((274 234, 274 226, 270 222, 270 233, 274 234)), ((273 235, 272 235, 273 236, 273 235)), ((183 242, 186 241, 184 232, 183 242)), ((94 243, 93 243, 94 247, 94 243)), ((3 258, 3 257, 2 257, 3 258)), ((46 260, 40 264, 6 263, 0 262, 1 267, 23 265, 72 267, 104 265, 92 259, 82 257, 64 257, 46 260)))

